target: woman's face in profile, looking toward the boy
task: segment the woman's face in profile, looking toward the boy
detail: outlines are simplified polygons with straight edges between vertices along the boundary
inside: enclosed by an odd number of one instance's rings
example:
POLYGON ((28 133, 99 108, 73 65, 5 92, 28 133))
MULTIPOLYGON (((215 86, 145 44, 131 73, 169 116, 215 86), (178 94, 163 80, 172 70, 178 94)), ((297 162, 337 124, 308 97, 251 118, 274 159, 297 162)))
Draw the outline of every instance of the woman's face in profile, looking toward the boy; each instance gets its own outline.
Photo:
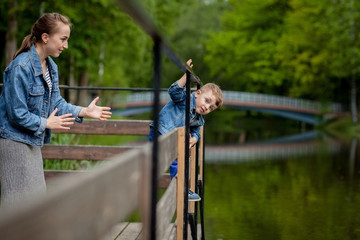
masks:
POLYGON ((56 31, 48 35, 46 50, 49 56, 58 57, 64 49, 68 48, 70 26, 62 22, 58 23, 56 31))

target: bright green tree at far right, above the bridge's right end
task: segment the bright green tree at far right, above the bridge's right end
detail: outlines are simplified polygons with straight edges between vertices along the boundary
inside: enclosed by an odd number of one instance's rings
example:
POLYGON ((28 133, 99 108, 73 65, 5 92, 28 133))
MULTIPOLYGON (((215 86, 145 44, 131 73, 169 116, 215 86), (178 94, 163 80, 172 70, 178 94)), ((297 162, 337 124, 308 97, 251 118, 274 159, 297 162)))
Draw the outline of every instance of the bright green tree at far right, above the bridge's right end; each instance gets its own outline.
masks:
POLYGON ((356 22, 358 16, 350 15, 347 1, 292 0, 290 6, 276 56, 291 80, 289 94, 317 100, 348 96, 349 82, 341 81, 359 72, 351 62, 358 58, 358 34, 350 37, 350 18, 356 22))

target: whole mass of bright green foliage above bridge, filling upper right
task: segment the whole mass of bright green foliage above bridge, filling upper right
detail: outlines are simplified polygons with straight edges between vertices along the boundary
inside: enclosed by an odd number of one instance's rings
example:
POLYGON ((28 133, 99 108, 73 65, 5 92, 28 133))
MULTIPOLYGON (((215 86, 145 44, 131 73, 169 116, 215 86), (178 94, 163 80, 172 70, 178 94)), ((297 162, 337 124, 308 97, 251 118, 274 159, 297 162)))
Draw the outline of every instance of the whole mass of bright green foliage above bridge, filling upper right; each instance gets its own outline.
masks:
POLYGON ((348 101, 359 64, 359 2, 229 1, 206 42, 206 63, 226 89, 348 101), (321 86, 321 87, 319 87, 321 86))

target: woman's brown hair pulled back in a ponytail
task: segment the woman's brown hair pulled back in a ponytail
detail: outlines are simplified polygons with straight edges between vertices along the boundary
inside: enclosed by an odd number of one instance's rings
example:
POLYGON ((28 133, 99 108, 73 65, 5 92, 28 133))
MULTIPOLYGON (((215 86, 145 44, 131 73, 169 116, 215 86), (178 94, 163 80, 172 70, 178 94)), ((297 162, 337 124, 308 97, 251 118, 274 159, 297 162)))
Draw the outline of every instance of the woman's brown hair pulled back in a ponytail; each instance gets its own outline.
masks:
POLYGON ((31 44, 41 41, 41 35, 47 33, 51 35, 56 32, 56 27, 59 22, 71 26, 70 20, 59 13, 45 13, 32 26, 31 33, 27 35, 20 48, 13 56, 15 59, 20 53, 29 51, 31 44))

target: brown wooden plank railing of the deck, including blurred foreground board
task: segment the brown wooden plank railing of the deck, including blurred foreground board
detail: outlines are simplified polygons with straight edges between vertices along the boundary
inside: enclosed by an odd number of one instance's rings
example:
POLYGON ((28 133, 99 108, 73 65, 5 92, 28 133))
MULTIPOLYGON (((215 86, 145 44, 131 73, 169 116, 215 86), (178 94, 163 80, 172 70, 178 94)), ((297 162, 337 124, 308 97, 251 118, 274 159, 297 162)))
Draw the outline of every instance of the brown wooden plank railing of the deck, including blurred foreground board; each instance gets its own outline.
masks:
MULTIPOLYGON (((85 120, 75 124, 70 131, 76 134, 130 134, 147 135, 149 121, 85 120)), ((60 133, 57 131, 57 133, 60 133)), ((159 137, 158 172, 161 179, 171 162, 178 159, 178 175, 167 186, 156 206, 156 239, 184 239, 184 162, 185 129, 178 128, 159 137), (176 222, 172 219, 176 212, 176 222)), ((202 145, 202 141, 199 143, 202 145)), ((85 173, 68 174, 69 171, 48 171, 51 189, 43 198, 24 199, 21 205, 0 214, 0 239, 101 239, 117 223, 124 221, 136 209, 140 209, 141 238, 149 239, 151 156, 152 143, 141 146, 70 146, 46 145, 43 158, 106 160, 85 173), (65 174, 66 173, 66 174, 65 174)), ((202 147, 199 160, 202 164, 202 147)), ((195 159, 195 148, 191 151, 195 159)), ((191 160, 190 188, 195 190, 196 163, 191 160)), ((202 169, 200 167, 200 169, 202 169)), ((76 171, 75 171, 76 172, 76 171)), ((202 172, 200 171, 200 179, 202 172)), ((165 176, 165 177, 164 177, 165 176)), ((189 213, 194 213, 194 203, 189 204, 189 213)), ((186 238, 186 237, 185 237, 186 238)))

